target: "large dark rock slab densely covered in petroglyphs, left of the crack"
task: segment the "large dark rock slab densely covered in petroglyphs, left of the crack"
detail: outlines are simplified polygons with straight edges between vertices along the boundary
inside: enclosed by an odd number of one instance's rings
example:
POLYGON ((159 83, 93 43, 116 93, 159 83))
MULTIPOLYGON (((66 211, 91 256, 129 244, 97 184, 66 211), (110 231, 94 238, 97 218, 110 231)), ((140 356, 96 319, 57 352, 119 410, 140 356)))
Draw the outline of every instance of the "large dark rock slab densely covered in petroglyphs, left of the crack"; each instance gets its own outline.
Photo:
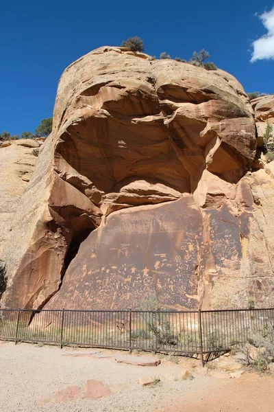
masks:
POLYGON ((47 307, 138 308, 157 296, 173 308, 197 308, 202 232, 192 196, 117 211, 82 243, 47 307))

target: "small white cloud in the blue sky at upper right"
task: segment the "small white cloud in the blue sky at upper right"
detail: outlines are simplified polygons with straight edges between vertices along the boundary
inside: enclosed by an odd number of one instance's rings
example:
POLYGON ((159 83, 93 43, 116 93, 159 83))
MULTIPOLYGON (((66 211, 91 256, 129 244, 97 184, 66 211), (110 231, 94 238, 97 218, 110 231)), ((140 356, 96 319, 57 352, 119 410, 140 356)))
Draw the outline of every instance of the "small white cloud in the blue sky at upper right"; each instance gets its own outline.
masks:
POLYGON ((252 43, 253 53, 251 62, 256 60, 274 59, 274 7, 270 12, 259 16, 267 33, 252 43))

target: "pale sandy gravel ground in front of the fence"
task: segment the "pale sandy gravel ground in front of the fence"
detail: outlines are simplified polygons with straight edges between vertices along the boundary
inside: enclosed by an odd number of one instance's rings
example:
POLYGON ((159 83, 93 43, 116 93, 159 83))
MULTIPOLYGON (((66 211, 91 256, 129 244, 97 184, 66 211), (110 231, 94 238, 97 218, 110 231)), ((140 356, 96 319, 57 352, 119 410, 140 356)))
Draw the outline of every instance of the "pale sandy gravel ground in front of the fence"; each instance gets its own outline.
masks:
MULTIPOLYGON (((171 362, 173 358, 165 357, 158 367, 142 367, 117 363, 114 357, 63 356, 75 351, 78 350, 0 343, 0 411, 274 412, 274 378, 269 376, 213 378, 204 376, 206 369, 201 369, 199 361, 187 358, 180 358, 175 364, 171 362), (183 367, 191 369, 193 380, 176 378, 183 367), (160 378, 160 382, 140 387, 140 376, 160 378), (110 396, 84 398, 88 379, 99 380, 110 388, 110 396), (71 385, 82 389, 81 398, 57 402, 55 393, 71 385)), ((101 353, 114 356, 117 351, 101 353)))

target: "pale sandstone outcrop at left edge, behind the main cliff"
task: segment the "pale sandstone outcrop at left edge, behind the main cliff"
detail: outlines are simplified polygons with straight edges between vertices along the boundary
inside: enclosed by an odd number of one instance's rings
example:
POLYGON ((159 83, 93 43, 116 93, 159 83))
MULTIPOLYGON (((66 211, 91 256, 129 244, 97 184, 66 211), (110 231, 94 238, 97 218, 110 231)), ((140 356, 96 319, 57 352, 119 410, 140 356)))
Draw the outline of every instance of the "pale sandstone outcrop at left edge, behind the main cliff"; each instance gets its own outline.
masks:
POLYGON ((30 139, 0 143, 0 258, 13 216, 36 165, 37 157, 32 153, 33 148, 39 146, 38 142, 30 139))

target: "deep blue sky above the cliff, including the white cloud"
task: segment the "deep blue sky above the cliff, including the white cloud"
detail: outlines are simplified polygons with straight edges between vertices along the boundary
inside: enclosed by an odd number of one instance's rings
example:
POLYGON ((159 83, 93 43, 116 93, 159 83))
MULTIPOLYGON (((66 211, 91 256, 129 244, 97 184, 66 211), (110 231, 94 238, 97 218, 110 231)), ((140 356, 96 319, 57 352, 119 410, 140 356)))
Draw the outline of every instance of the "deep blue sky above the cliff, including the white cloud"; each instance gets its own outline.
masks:
POLYGON ((129 36, 140 36, 145 52, 157 57, 188 60, 205 48, 247 92, 274 93, 273 6, 274 0, 3 0, 0 132, 34 132, 53 114, 66 66, 129 36))

